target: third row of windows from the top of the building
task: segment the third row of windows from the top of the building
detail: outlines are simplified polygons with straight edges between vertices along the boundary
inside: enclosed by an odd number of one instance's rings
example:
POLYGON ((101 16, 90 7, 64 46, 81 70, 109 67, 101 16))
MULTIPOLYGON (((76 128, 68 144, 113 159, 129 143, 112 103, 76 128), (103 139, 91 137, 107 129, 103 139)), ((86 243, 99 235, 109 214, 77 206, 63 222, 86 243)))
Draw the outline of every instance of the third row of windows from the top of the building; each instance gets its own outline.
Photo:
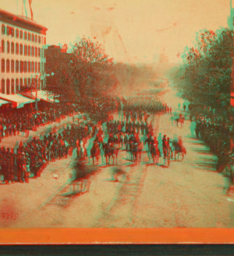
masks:
POLYGON ((9 59, 2 59, 2 73, 6 71, 6 73, 9 73, 11 70, 12 73, 40 73, 41 71, 44 71, 44 63, 40 62, 30 62, 30 61, 19 61, 12 59, 11 61, 9 59), (16 66, 15 66, 16 65, 16 66))

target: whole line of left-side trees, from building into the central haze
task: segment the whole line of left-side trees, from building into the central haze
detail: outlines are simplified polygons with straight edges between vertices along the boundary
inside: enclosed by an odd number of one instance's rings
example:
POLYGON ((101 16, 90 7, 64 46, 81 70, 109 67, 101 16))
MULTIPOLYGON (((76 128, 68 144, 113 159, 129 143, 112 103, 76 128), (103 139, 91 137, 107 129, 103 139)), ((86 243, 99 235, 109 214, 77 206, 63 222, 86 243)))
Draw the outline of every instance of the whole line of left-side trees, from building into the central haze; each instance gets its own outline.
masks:
POLYGON ((68 51, 51 46, 46 50, 47 88, 60 101, 76 102, 81 97, 137 92, 154 80, 154 70, 145 65, 115 63, 98 42, 77 38, 68 51), (116 93, 115 93, 116 92, 116 93))

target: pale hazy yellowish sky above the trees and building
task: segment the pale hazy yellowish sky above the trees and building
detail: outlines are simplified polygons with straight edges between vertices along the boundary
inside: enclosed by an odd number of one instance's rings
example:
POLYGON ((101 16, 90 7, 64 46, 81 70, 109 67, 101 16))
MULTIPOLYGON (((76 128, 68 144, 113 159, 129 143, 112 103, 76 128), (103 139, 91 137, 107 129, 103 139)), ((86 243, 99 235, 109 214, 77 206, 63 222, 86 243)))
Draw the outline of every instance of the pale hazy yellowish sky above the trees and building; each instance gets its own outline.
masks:
MULTIPOLYGON (((0 8, 21 15, 22 2, 0 0, 0 8)), ((163 50, 178 62, 197 31, 227 27, 230 0, 33 0, 32 7, 50 45, 95 36, 116 60, 151 63, 163 50)))

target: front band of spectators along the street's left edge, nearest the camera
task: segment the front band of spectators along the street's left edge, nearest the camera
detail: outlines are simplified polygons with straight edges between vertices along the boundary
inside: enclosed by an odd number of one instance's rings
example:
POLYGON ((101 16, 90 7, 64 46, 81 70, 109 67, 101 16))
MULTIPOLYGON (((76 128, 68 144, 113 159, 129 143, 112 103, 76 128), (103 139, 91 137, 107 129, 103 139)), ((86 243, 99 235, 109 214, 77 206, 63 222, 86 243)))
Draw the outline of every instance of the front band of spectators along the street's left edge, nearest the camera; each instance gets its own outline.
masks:
POLYGON ((90 130, 90 124, 68 125, 58 133, 20 143, 15 149, 0 148, 1 182, 28 182, 30 177, 40 176, 50 161, 71 156, 90 131, 97 129, 90 130))

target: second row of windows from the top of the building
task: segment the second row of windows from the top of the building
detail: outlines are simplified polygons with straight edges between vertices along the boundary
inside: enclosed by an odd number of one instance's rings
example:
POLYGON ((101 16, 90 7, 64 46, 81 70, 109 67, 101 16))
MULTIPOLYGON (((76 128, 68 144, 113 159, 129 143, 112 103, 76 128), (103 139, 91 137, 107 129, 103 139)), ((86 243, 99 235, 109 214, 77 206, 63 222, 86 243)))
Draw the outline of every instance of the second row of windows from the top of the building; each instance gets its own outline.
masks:
MULTIPOLYGON (((2 40, 2 53, 5 52, 5 41, 2 40)), ((12 42, 11 44, 9 43, 9 41, 6 41, 6 53, 11 52, 12 54, 14 54, 16 52, 16 54, 20 54, 20 55, 24 55, 24 56, 35 56, 35 57, 42 57, 44 56, 44 49, 41 48, 37 48, 34 46, 30 46, 30 45, 22 45, 22 44, 18 44, 16 43, 16 45, 12 42)))

